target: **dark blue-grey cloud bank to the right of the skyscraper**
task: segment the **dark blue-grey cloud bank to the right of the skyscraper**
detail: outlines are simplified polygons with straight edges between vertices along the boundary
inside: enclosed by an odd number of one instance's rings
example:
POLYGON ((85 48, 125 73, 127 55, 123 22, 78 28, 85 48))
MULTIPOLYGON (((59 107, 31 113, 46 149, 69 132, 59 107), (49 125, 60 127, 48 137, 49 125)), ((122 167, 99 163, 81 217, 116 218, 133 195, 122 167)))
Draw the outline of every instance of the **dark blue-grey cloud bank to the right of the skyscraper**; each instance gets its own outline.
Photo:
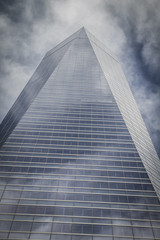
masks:
POLYGON ((106 8, 126 36, 119 58, 160 154, 160 2, 114 0, 106 8))

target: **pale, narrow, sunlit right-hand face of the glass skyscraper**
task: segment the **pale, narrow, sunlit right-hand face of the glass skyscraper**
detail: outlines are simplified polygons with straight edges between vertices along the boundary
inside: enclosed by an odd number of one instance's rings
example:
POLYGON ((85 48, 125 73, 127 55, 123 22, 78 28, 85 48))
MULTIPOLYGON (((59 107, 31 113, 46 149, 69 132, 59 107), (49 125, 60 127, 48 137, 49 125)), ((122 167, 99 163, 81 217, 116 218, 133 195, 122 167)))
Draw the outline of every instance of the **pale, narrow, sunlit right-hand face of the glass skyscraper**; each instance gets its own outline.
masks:
POLYGON ((98 40, 95 41, 89 32, 88 36, 142 162, 160 197, 160 161, 122 67, 115 56, 111 55, 98 40))

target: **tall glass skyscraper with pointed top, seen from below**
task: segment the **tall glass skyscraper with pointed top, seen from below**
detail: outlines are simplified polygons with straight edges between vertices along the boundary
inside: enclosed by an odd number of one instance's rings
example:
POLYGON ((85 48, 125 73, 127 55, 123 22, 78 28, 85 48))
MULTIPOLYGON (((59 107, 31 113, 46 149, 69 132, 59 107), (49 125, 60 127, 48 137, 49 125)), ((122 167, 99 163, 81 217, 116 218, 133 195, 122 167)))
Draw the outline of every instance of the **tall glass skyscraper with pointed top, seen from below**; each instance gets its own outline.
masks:
POLYGON ((1 124, 1 239, 158 240, 160 162, 117 58, 84 28, 1 124))

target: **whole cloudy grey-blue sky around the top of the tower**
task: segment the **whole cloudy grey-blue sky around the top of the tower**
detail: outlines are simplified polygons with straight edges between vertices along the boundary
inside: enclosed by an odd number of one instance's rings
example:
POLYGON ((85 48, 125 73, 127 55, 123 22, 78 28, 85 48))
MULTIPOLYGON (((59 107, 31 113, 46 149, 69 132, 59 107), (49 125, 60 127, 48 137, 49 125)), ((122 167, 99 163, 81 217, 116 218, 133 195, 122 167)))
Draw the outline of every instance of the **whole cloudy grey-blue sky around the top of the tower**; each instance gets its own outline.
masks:
POLYGON ((159 0, 0 0, 0 121, 52 47, 85 26, 122 63, 160 154, 159 0))

